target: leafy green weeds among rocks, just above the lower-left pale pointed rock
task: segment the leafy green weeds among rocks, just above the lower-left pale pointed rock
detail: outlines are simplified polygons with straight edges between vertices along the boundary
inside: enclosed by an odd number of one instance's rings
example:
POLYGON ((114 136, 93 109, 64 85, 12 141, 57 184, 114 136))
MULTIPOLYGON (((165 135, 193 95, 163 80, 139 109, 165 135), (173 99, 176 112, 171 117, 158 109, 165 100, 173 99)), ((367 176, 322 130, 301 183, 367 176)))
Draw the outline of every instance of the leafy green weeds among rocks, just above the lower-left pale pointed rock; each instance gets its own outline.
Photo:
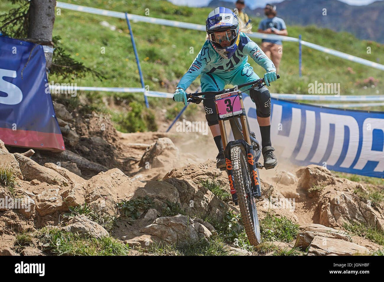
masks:
POLYGON ((75 216, 83 214, 91 221, 94 221, 103 226, 104 229, 108 232, 110 232, 116 225, 115 216, 111 216, 108 213, 104 213, 103 211, 91 209, 85 202, 76 207, 69 206, 68 209, 70 210, 70 213, 63 214, 64 218, 74 218, 75 216))

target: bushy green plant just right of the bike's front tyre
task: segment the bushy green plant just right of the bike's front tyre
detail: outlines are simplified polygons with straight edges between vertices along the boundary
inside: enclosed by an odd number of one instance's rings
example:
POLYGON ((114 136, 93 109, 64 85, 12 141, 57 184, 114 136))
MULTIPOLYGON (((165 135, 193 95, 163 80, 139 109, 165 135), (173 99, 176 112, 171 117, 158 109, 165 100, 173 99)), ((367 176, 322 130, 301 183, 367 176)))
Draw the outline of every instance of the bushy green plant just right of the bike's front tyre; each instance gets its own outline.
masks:
POLYGON ((278 218, 273 214, 266 214, 260 221, 260 233, 263 241, 291 242, 296 239, 299 225, 293 223, 285 216, 278 218))

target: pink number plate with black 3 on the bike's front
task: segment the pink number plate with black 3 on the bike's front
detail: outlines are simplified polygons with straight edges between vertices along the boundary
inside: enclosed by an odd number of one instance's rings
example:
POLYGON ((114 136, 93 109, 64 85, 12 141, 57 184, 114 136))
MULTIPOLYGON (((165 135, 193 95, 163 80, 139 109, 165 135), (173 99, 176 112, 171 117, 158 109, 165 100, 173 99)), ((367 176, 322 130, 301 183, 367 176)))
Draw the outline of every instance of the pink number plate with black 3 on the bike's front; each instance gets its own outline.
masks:
POLYGON ((238 115, 243 112, 237 91, 216 95, 215 99, 218 115, 221 119, 238 115))

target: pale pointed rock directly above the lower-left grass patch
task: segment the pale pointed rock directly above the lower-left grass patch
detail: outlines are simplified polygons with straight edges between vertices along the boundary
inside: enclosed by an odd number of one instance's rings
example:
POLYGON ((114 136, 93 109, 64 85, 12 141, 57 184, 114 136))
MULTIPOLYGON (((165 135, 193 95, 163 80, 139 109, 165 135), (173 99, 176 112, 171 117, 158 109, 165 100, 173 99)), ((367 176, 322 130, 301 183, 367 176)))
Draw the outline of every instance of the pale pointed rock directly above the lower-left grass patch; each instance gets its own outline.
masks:
POLYGON ((101 237, 109 237, 108 231, 103 226, 91 221, 84 215, 78 215, 68 221, 68 225, 61 228, 61 231, 78 233, 79 235, 91 235, 100 239, 101 237))

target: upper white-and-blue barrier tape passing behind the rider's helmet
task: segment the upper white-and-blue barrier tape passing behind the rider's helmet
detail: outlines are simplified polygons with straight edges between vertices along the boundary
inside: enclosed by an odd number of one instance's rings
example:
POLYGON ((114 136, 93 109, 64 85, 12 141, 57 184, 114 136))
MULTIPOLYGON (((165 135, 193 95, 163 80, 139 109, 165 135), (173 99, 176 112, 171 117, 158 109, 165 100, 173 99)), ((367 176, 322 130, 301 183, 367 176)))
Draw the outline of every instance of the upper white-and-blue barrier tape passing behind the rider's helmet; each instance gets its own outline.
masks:
MULTIPOLYGON (((125 13, 122 12, 114 12, 114 11, 109 11, 109 10, 103 10, 103 9, 98 9, 98 8, 91 8, 91 7, 86 7, 86 6, 80 6, 80 5, 74 5, 74 4, 69 4, 69 3, 63 3, 63 2, 56 2, 56 7, 58 8, 64 8, 68 10, 73 10, 73 11, 78 11, 78 12, 86 12, 86 13, 91 13, 91 14, 96 14, 96 15, 103 15, 103 16, 111 16, 114 18, 122 18, 125 19, 125 13)), ((139 15, 133 15, 133 14, 128 14, 129 20, 133 21, 142 21, 145 23, 154 23, 158 25, 166 25, 166 26, 174 26, 174 27, 179 27, 179 28, 186 28, 186 29, 192 29, 192 30, 199 30, 199 31, 205 31, 205 25, 197 25, 195 23, 185 23, 183 21, 172 21, 172 20, 164 20, 160 18, 152 18, 149 16, 139 16, 139 15)), ((259 39, 271 39, 271 40, 282 40, 282 41, 291 41, 291 42, 299 42, 298 38, 294 37, 289 37, 289 36, 281 36, 281 35, 274 35, 274 34, 265 34, 265 33, 251 33, 247 34, 251 38, 259 38, 259 39)), ((384 70, 384 65, 382 64, 377 64, 372 61, 362 59, 350 54, 346 54, 340 51, 336 51, 333 49, 329 49, 320 45, 316 45, 310 42, 306 42, 301 40, 301 44, 322 51, 324 53, 346 59, 348 61, 352 61, 355 63, 363 64, 365 66, 370 66, 372 68, 376 69, 381 69, 384 70)))

